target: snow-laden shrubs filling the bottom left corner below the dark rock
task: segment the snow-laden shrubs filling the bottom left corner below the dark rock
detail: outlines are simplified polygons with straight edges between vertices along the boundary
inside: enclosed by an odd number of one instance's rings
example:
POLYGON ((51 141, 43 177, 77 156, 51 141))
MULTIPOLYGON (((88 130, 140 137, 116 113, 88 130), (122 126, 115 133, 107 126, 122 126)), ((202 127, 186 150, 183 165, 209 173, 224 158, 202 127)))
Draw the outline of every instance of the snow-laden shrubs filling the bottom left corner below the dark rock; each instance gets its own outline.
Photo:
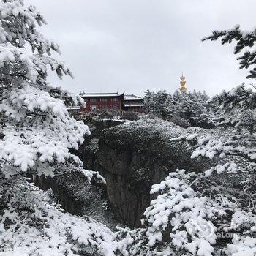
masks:
POLYGON ((7 203, 0 214, 1 255, 114 255, 114 234, 105 225, 50 205, 47 194, 23 177, 0 182, 0 202, 7 203))

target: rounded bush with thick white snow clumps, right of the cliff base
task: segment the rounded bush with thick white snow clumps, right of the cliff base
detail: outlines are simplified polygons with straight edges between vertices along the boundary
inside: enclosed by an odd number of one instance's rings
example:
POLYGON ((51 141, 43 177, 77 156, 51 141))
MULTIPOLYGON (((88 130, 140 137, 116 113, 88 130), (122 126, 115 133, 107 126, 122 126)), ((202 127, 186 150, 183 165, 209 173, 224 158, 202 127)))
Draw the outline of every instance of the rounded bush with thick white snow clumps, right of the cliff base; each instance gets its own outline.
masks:
POLYGON ((152 186, 159 193, 145 211, 149 246, 167 241, 176 250, 192 255, 211 255, 216 243, 214 221, 226 216, 226 208, 216 200, 203 197, 187 182, 195 173, 184 170, 170 173, 165 181, 152 186))

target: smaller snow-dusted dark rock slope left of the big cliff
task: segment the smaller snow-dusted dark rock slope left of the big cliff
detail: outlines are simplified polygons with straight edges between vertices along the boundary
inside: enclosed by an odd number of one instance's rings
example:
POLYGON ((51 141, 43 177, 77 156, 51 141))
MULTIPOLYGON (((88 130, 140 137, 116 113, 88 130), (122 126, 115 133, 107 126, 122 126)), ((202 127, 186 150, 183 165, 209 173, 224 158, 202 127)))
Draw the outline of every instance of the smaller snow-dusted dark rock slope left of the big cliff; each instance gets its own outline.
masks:
POLYGON ((104 223, 111 230, 120 225, 114 217, 110 203, 103 195, 105 187, 96 182, 89 184, 82 173, 74 170, 56 174, 53 178, 36 176, 34 184, 43 190, 52 189, 56 200, 61 203, 61 208, 71 214, 89 216, 97 222, 104 223))

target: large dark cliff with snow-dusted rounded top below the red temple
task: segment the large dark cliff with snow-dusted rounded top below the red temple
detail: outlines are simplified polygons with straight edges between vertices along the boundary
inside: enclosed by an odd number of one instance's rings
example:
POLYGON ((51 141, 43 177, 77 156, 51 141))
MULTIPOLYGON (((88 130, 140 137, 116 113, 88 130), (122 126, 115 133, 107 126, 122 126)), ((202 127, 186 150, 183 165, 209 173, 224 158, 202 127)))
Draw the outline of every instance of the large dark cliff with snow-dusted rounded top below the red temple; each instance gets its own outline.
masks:
POLYGON ((105 177, 106 196, 118 220, 139 226, 152 184, 171 171, 206 169, 207 162, 190 159, 192 151, 185 143, 170 141, 184 132, 167 121, 146 119, 104 129, 83 145, 80 157, 105 177))

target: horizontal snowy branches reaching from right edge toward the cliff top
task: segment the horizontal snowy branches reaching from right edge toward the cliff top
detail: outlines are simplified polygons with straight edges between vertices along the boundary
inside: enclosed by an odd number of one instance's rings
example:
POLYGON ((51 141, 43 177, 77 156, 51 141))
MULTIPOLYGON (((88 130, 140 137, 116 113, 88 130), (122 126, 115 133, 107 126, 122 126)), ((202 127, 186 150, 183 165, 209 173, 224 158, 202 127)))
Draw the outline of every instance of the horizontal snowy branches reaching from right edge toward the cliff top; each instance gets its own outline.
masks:
POLYGON ((211 134, 181 135, 173 140, 187 140, 194 148, 191 158, 206 157, 219 159, 218 164, 206 171, 211 173, 254 173, 256 159, 255 135, 236 132, 236 130, 216 129, 211 134), (221 134, 219 133, 221 132, 221 134), (230 133, 233 135, 230 136, 230 133))

